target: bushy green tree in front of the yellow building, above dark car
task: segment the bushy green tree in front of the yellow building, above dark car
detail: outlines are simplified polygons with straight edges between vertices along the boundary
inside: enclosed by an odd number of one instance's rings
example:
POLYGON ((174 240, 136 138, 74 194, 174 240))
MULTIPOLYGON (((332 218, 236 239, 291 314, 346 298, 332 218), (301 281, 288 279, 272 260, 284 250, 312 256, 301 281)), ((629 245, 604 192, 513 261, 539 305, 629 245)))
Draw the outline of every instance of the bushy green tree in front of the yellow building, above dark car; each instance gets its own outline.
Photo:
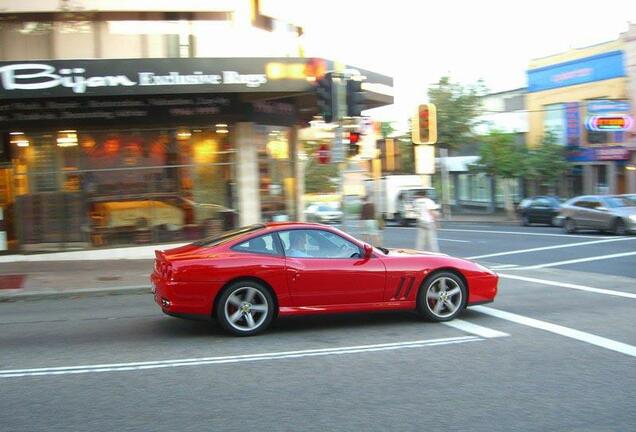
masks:
POLYGON ((548 193, 556 194, 557 184, 569 170, 565 147, 557 142, 553 132, 546 130, 541 145, 529 150, 526 158, 526 179, 533 183, 533 192, 539 192, 537 186, 547 186, 548 193))

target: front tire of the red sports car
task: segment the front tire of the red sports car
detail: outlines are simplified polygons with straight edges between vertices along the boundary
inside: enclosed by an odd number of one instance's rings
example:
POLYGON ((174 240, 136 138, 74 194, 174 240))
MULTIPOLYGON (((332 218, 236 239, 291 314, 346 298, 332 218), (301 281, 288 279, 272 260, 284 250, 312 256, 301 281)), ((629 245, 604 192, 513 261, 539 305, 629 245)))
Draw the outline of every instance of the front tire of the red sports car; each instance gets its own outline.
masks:
POLYGON ((422 282, 422 285, 420 285, 420 290, 417 293, 417 312, 429 321, 450 321, 466 308, 467 297, 468 291, 466 290, 466 284, 456 273, 448 271, 432 273, 422 282), (445 282, 442 283, 442 281, 445 282), (449 283, 449 281, 452 281, 452 283, 449 283), (444 284, 450 289, 443 289, 444 284), (453 286, 449 287, 449 285, 453 286), (451 308, 447 306, 448 303, 444 301, 443 298, 440 298, 439 294, 442 289, 450 293, 454 291, 455 288, 459 288, 457 294, 452 296, 447 294, 446 297, 443 297, 449 298, 454 305, 454 309, 451 310, 451 308), (435 297, 436 295, 437 297, 435 297), (437 310, 436 306, 438 306, 440 301, 442 301, 441 309, 437 310))

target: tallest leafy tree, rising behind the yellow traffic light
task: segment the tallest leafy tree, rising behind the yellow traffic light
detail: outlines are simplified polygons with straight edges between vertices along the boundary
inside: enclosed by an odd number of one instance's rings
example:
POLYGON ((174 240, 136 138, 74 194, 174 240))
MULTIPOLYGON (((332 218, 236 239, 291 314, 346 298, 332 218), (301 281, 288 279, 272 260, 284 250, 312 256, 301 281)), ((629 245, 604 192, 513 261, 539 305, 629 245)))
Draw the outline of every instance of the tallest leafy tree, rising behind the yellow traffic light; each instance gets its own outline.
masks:
POLYGON ((473 127, 480 114, 484 84, 454 83, 447 76, 429 87, 428 98, 437 107, 437 142, 449 150, 457 150, 474 139, 473 127))

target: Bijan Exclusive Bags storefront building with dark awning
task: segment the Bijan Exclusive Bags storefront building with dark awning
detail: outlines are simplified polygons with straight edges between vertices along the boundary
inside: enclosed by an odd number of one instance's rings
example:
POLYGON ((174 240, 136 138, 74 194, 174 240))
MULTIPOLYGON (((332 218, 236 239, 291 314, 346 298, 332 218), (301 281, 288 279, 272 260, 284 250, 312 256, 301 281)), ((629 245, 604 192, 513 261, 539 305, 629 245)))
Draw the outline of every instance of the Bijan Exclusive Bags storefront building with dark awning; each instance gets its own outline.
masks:
MULTIPOLYGON (((34 18, 44 35, 17 31, 36 24, 15 15, 0 26, 0 250, 183 241, 302 218, 297 137, 317 114, 314 81, 333 62, 202 56, 211 49, 195 43, 194 30, 177 37, 190 45, 176 54, 151 52, 171 35, 156 45, 157 35, 120 35, 129 58, 106 59, 104 39, 114 36, 104 28, 130 16, 88 17, 81 28, 92 42, 81 31, 75 39, 60 32, 69 22, 34 18), (56 45, 61 35, 73 43, 56 45), (49 43, 39 44, 44 36, 49 43), (7 40, 22 44, 22 57, 7 40), (38 51, 44 46, 49 57, 38 51), (69 58, 58 49, 66 46, 92 54, 69 58)), ((233 26, 231 16, 213 18, 214 28, 233 26)), ((208 21, 193 19, 189 28, 202 32, 208 21)), ((392 86, 389 77, 356 71, 370 86, 392 86)), ((366 97, 369 107, 392 102, 371 90, 366 97)))

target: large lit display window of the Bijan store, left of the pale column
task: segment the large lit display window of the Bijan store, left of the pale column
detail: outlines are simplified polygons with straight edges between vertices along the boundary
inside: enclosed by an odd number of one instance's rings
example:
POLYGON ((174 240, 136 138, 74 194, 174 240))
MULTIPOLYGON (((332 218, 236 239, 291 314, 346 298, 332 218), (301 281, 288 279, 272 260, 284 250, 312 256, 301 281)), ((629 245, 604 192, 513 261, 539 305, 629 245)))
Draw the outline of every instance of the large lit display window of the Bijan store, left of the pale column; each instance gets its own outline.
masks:
POLYGON ((14 145, 24 249, 196 240, 231 229, 231 128, 60 130, 14 145), (65 246, 66 245, 66 246, 65 246))

